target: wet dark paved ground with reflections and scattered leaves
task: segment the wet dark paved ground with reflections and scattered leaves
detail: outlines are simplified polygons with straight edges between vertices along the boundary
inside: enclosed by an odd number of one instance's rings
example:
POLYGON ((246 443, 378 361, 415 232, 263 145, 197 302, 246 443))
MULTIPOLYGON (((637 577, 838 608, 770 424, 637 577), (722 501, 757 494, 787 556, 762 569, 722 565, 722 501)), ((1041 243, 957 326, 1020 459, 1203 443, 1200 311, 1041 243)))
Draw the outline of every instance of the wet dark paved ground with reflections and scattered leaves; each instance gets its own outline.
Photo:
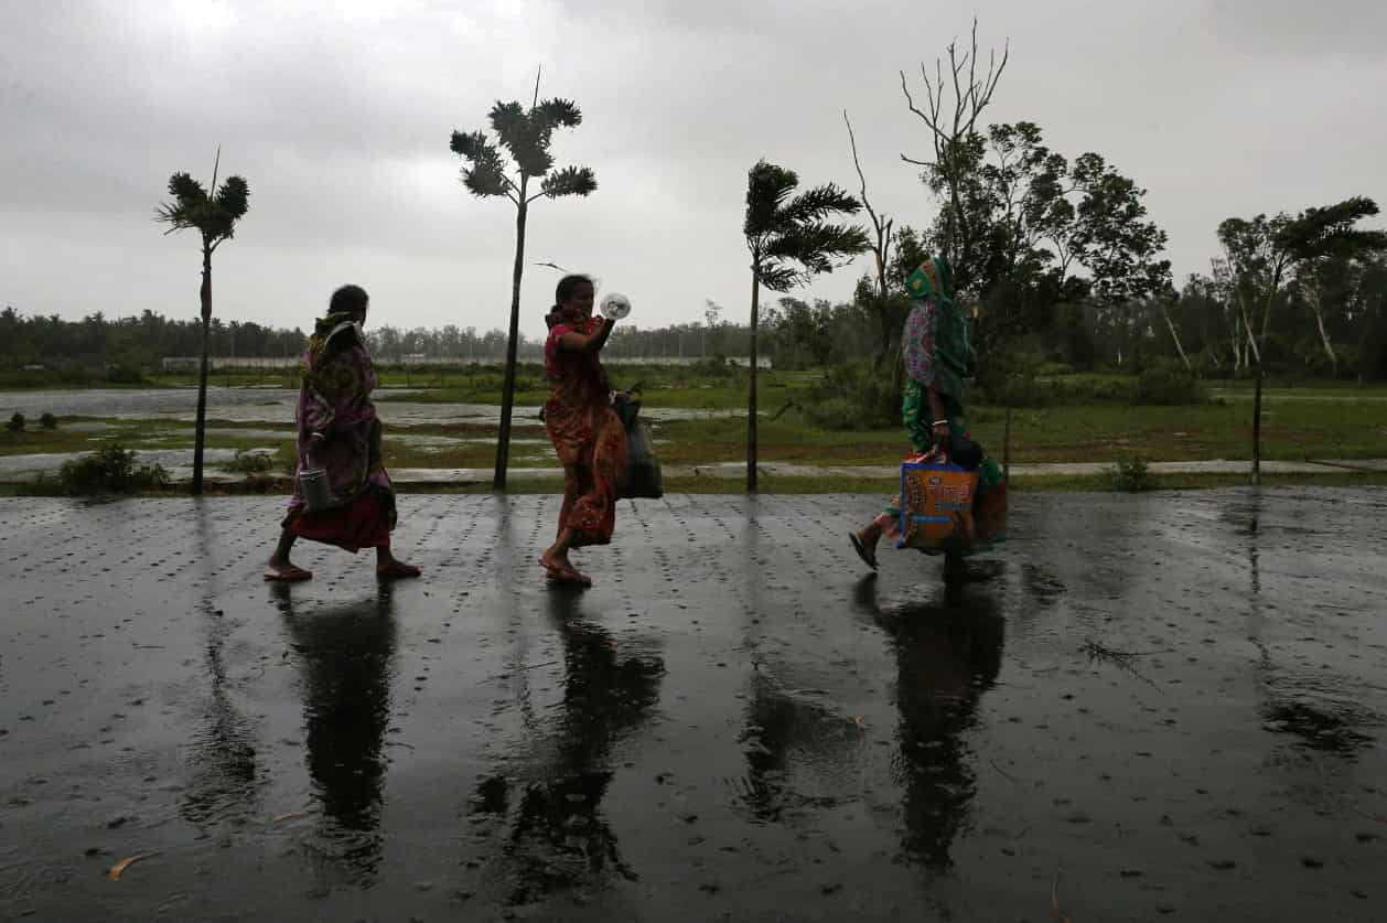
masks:
POLYGON ((0 917, 1380 920, 1387 491, 1022 496, 945 579, 871 497, 0 504, 0 917), (111 867, 126 858, 146 858, 111 867))

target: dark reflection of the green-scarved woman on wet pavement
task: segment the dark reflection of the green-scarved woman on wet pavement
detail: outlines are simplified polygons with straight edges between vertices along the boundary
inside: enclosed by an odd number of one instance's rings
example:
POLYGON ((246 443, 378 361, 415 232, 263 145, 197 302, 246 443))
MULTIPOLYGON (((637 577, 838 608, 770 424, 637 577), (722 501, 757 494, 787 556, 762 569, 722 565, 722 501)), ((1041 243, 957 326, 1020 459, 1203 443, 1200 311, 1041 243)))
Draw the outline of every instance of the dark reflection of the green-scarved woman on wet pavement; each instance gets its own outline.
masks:
POLYGON ((885 632, 896 657, 902 847, 938 870, 953 865, 950 848, 968 823, 976 774, 967 733, 1001 669, 997 582, 981 573, 947 579, 922 600, 881 604, 875 575, 859 580, 853 594, 857 612, 885 632))

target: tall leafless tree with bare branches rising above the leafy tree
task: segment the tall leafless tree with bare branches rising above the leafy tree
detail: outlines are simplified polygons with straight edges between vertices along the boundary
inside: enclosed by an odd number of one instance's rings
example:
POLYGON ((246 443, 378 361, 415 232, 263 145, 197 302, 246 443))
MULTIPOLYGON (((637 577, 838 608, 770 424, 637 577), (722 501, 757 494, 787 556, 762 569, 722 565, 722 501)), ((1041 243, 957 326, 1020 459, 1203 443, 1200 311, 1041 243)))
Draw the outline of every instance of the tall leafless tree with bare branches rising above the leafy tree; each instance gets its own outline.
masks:
POLYGON ((989 51, 988 72, 978 76, 978 19, 972 21, 971 44, 960 51, 958 42, 950 42, 946 49, 949 54, 949 76, 945 76, 943 60, 935 60, 935 76, 931 79, 928 68, 920 65, 920 76, 925 83, 925 108, 915 105, 915 99, 910 94, 906 83, 906 72, 900 71, 900 92, 906 94, 910 111, 929 128, 931 142, 935 149, 935 158, 915 160, 902 154, 907 164, 927 167, 936 171, 945 180, 949 203, 946 205, 945 221, 945 255, 954 264, 954 280, 960 289, 967 289, 972 279, 968 278, 971 268, 968 261, 960 257, 971 253, 975 243, 975 228, 971 226, 968 211, 964 208, 961 187, 968 172, 968 144, 978 129, 978 119, 983 110, 992 103, 992 96, 997 90, 1003 71, 1011 57, 1011 42, 1008 40, 997 60, 996 49, 989 51))

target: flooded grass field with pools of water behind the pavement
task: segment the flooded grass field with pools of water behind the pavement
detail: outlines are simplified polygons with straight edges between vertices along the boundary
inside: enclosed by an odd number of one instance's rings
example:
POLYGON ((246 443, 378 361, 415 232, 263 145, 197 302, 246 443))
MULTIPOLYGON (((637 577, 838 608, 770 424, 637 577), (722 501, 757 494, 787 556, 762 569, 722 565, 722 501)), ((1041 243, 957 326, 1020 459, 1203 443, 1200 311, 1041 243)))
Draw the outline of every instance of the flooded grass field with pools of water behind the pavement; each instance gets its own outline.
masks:
MULTIPOLYGON (((526 369, 515 416, 517 466, 553 466, 542 423, 535 418, 545 394, 537 369, 526 369), (528 380, 528 379, 533 379, 528 380), (524 441, 522 441, 524 440, 524 441)), ((619 366, 620 384, 645 383, 645 416, 652 421, 656 450, 667 466, 735 464, 745 458, 745 391, 741 372, 699 376, 689 369, 619 366), (646 380, 649 379, 649 380, 646 380), (707 415, 691 415, 707 411, 707 415)), ((477 372, 467 383, 462 373, 436 376, 445 387, 427 390, 427 376, 408 376, 415 390, 383 393, 386 462, 393 468, 487 468, 495 455, 495 394, 491 372, 477 372), (459 401, 484 401, 458 404, 459 401)), ((405 376, 387 372, 387 383, 404 386, 405 376), (398 379, 398 380, 395 380, 398 379)), ((161 376, 176 384, 178 376, 161 376)), ((248 384, 251 376, 227 380, 248 384)), ((813 425, 802 409, 817 373, 767 373, 761 379, 763 418, 759 457, 763 462, 799 465, 892 466, 908 452, 899 427, 835 430, 813 425), (777 412, 784 412, 775 416, 777 412)), ((284 384, 284 382, 275 382, 284 384)), ((1143 457, 1151 462, 1246 459, 1251 454, 1251 405, 1241 400, 1241 383, 1215 383, 1226 400, 1166 408, 1093 403, 1014 409, 1011 462, 1103 462, 1143 457)), ((4 401, 6 396, 0 396, 4 401)), ((193 447, 191 393, 175 390, 11 391, 10 403, 33 409, 51 404, 57 429, 28 427, 0 432, 0 459, 36 457, 32 464, 55 471, 62 457, 75 457, 112 441, 143 451, 183 451, 193 447), (186 400, 184 400, 186 398, 186 400), (85 412, 68 412, 72 411, 85 412), (37 457, 44 457, 40 462, 37 457), (51 457, 51 458, 50 458, 51 457)), ((226 452, 288 451, 293 444, 294 391, 284 387, 233 387, 212 394, 208 447, 226 452)), ((0 404, 3 407, 3 404, 0 404)), ((44 407, 46 409, 47 407, 44 407)), ((974 408, 972 434, 994 457, 1003 451, 1006 411, 974 408)), ((1262 419, 1262 457, 1269 461, 1387 457, 1387 389, 1294 387, 1268 389, 1262 419)), ((14 468, 14 465, 11 465, 14 468)), ((0 466, 0 471, 4 471, 0 466)), ((0 475, 3 479, 4 475, 0 475)), ((735 483, 735 479, 732 479, 735 483)), ((1062 480, 1062 479, 1061 479, 1062 480)), ((1056 483, 1049 477, 1046 483, 1056 483)))

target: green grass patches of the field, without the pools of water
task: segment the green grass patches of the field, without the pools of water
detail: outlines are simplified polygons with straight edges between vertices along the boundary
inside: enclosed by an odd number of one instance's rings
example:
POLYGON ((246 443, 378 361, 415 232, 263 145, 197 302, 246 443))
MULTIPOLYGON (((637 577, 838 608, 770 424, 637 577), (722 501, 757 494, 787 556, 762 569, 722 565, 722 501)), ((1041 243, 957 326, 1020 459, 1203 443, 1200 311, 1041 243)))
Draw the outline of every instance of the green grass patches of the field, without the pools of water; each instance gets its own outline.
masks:
MULTIPOLYGON (((659 421, 662 409, 702 409, 699 419, 667 419, 656 426, 660 459, 671 466, 735 462, 745 458, 746 446, 746 373, 670 366, 613 366, 613 384, 628 387, 641 383, 646 415, 659 421)), ((295 386, 293 376, 236 372, 214 383, 295 386)), ((437 404, 497 404, 501 371, 480 368, 469 372, 384 369, 377 400, 437 404), (409 393, 401 389, 411 387, 409 393)), ((818 372, 766 372, 760 376, 760 459, 800 465, 882 465, 899 462, 907 452, 903 432, 896 426, 861 430, 824 429, 813 425, 803 407, 810 404, 818 372), (788 409, 785 409, 788 407, 788 409), (777 411, 784 412, 770 419, 777 411)), ((1067 376, 1067 386, 1122 382, 1121 376, 1067 376)), ((1128 379, 1129 380, 1129 379, 1128 379)), ((194 376, 157 376, 155 386, 189 387, 194 376)), ((538 366, 519 372, 517 401, 534 405, 544 401, 538 366)), ((1144 407, 1115 401, 1061 404, 1011 411, 1013 464, 1028 462, 1112 462, 1142 457, 1150 461, 1247 459, 1251 457, 1251 384, 1248 382, 1207 382, 1212 400, 1189 407, 1144 407)), ((971 408, 974 437, 993 455, 1003 454, 1006 408, 978 404, 971 408)), ((384 408, 388 416, 388 407, 384 408)), ((211 448, 272 448, 287 455, 291 448, 293 423, 233 423, 209 421, 214 430, 211 448), (259 430, 262 434, 255 434, 259 430), (264 430, 273 430, 268 437, 264 430), (241 434, 244 433, 244 434, 241 434)), ((387 426, 386 461, 393 468, 488 468, 492 464, 495 426, 477 423, 429 423, 387 426), (411 437, 444 437, 445 444, 417 444, 411 437)), ((540 440, 512 448, 512 464, 520 468, 552 466, 552 451, 538 421, 528 415, 516 418, 515 436, 540 440)), ((39 429, 31 421, 25 432, 0 430, 0 457, 83 452, 101 444, 119 443, 126 448, 189 448, 193 444, 190 423, 166 419, 64 419, 55 430, 39 429), (103 425, 100 432, 83 432, 75 423, 103 425)), ((1266 387, 1264 393, 1262 457, 1266 459, 1387 458, 1387 387, 1356 387, 1338 382, 1308 382, 1293 387, 1266 387)), ((1359 483, 1362 476, 1344 479, 1359 483), (1358 479, 1358 480, 1355 480, 1358 479)), ((692 479, 699 490, 735 490, 739 480, 692 479)), ((778 479, 768 479, 775 484, 778 479)), ((791 479, 803 480, 803 479, 791 479)), ((1101 479, 1100 479, 1101 480, 1101 479)), ((1168 480, 1168 486, 1203 486, 1218 476, 1191 476, 1186 482, 1168 480)), ((811 490, 822 484, 852 490, 852 479, 820 479, 799 483, 811 490)), ((1022 489, 1039 486, 1036 479, 1018 479, 1022 489)), ((1234 477, 1232 483, 1241 483, 1234 477)), ((1316 482, 1318 483, 1318 482, 1316 482)), ((1047 477, 1049 487, 1092 487, 1083 479, 1047 477)), ((856 484, 871 491, 889 489, 874 480, 856 484)), ((671 489, 675 489, 671 483, 671 489)))

